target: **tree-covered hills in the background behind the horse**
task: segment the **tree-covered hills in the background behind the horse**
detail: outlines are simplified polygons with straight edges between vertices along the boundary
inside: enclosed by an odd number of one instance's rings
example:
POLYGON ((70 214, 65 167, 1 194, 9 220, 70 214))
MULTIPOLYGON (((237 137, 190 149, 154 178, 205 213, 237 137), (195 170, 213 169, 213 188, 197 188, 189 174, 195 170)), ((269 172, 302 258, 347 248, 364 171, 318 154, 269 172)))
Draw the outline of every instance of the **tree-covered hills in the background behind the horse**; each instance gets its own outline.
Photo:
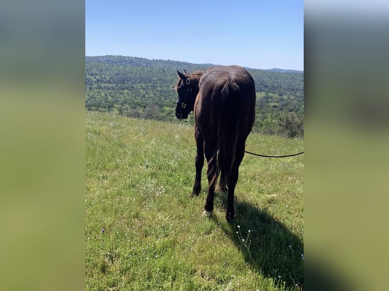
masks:
MULTIPOLYGON (((192 64, 126 56, 85 57, 85 107, 121 115, 176 122, 176 69, 204 70, 192 64)), ((304 74, 247 68, 255 81, 254 131, 303 135, 304 74)), ((192 117, 184 122, 192 123, 192 117)))

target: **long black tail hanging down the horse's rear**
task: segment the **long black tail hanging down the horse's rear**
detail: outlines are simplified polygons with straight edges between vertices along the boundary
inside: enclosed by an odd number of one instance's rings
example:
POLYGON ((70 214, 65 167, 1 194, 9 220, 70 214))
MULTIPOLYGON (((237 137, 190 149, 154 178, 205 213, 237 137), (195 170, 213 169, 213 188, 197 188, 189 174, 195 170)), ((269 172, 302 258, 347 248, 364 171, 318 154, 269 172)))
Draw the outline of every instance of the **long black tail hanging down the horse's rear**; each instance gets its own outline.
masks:
POLYGON ((226 84, 220 92, 220 114, 218 125, 217 172, 220 186, 225 188, 230 180, 235 161, 239 136, 240 89, 234 83, 226 84))

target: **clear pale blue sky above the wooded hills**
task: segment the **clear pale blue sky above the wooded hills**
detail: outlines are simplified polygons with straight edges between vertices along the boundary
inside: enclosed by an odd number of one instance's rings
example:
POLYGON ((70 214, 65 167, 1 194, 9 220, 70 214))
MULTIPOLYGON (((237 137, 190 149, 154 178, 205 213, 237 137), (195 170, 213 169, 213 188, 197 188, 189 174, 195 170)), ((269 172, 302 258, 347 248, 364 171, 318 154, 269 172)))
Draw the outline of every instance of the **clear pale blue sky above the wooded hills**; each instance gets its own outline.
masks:
POLYGON ((304 69, 303 0, 86 0, 85 55, 304 69))

